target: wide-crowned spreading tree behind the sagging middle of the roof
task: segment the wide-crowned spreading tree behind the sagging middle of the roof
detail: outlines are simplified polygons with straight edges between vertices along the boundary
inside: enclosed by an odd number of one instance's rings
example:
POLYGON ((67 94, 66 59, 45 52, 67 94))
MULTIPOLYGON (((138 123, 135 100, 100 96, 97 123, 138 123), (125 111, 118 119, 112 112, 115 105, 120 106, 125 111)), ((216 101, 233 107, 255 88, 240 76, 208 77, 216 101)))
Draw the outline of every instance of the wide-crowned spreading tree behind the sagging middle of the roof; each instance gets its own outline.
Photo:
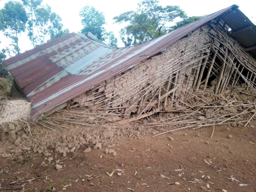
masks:
POLYGON ((140 44, 169 31, 175 18, 185 18, 179 6, 162 7, 158 0, 144 0, 138 4, 137 11, 128 11, 114 17, 115 23, 128 23, 120 36, 126 46, 140 44))

